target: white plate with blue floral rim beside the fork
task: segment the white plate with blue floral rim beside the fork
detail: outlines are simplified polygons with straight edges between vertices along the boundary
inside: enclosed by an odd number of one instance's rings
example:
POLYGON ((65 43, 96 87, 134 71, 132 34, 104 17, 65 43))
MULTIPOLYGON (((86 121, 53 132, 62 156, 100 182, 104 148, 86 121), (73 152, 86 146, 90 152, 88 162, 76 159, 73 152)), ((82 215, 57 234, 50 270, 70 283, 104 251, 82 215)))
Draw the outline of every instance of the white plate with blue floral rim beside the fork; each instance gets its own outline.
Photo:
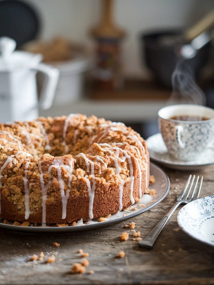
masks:
POLYGON ((179 211, 177 222, 190 237, 214 247, 214 196, 186 204, 179 211))

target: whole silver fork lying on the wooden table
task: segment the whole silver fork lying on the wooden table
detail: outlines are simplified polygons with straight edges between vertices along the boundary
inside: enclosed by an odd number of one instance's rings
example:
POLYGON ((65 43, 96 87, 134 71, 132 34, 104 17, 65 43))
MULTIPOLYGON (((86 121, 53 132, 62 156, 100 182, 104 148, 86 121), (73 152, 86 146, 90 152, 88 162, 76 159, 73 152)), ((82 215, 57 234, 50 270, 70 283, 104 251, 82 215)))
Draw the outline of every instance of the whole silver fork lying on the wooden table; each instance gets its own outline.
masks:
POLYGON ((201 176, 200 179, 200 183, 198 185, 200 177, 197 176, 194 188, 193 188, 193 184, 195 181, 195 175, 189 175, 189 178, 187 179, 187 182, 183 188, 183 191, 181 192, 181 194, 177 197, 177 201, 175 202, 175 204, 171 207, 171 209, 166 213, 166 215, 163 217, 163 219, 158 223, 158 225, 156 225, 156 227, 154 227, 154 229, 148 234, 148 236, 145 237, 145 239, 142 239, 142 241, 138 242, 139 247, 146 247, 146 248, 152 248, 158 235, 160 234, 160 232, 162 231, 163 227, 165 226, 165 224, 167 223, 167 221, 169 220, 169 218, 171 217, 172 213, 177 209, 177 207, 180 204, 187 204, 195 199, 197 199, 199 197, 200 191, 201 191, 201 186, 203 183, 203 176, 201 176), (192 180, 191 180, 192 178, 192 180), (198 186, 198 188, 197 188, 198 186), (191 190, 193 188, 192 194, 191 190), (196 191, 197 189, 197 191, 196 191))

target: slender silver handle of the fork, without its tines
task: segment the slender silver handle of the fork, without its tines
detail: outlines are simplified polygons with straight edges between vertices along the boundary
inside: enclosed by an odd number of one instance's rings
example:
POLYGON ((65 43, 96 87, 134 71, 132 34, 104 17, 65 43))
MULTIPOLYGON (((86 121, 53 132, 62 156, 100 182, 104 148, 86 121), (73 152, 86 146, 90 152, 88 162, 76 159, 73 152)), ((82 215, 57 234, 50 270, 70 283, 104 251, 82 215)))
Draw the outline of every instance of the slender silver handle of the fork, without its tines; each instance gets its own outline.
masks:
POLYGON ((171 209, 165 214, 163 219, 154 227, 154 229, 148 234, 148 236, 145 237, 145 239, 142 239, 142 241, 138 242, 139 247, 146 247, 146 248, 152 248, 157 237, 159 236, 160 232, 162 231, 163 227, 171 217, 171 215, 174 213, 174 211, 177 209, 177 207, 182 202, 176 202, 171 209))

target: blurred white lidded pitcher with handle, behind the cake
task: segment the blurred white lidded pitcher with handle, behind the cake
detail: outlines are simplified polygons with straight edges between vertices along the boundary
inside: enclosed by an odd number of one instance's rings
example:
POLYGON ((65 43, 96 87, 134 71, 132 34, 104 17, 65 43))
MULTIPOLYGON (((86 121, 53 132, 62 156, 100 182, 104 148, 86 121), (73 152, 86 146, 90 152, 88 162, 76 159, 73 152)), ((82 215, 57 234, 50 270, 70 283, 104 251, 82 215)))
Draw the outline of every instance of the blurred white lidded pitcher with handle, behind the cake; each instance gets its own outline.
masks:
POLYGON ((13 39, 0 38, 0 122, 37 119, 39 108, 51 107, 58 83, 58 69, 41 63, 41 54, 14 51, 15 47, 13 39), (38 71, 46 78, 40 99, 36 84, 38 71))

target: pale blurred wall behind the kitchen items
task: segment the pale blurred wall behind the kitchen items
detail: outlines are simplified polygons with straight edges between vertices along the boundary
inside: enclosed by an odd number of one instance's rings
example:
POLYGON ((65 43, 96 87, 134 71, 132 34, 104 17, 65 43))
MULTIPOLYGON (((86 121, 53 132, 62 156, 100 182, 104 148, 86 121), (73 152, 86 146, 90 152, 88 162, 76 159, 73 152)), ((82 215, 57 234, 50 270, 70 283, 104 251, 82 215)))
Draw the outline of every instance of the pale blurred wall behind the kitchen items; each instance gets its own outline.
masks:
MULTIPOLYGON (((92 46, 89 30, 100 19, 101 0, 25 0, 39 11, 40 37, 63 35, 92 46)), ((127 31, 123 65, 127 76, 146 77, 140 58, 139 34, 152 28, 188 27, 214 9, 213 0, 115 0, 115 22, 127 31)))

